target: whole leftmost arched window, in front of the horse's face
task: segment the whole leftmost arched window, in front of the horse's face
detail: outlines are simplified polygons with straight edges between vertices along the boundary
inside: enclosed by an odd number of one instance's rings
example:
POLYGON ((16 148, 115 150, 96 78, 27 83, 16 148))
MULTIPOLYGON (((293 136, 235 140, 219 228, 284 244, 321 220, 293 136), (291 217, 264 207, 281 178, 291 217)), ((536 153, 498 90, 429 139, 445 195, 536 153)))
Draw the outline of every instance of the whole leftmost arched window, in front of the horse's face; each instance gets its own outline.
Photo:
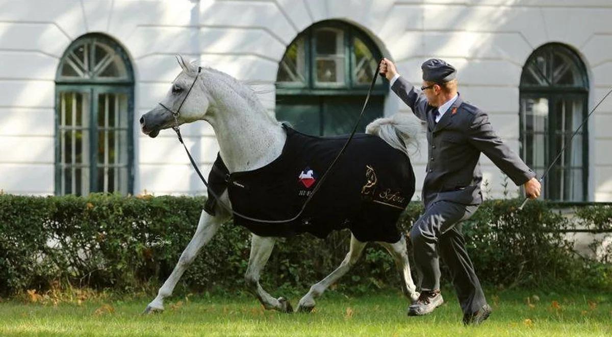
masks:
POLYGON ((76 39, 56 75, 55 191, 132 192, 133 72, 100 34, 76 39))

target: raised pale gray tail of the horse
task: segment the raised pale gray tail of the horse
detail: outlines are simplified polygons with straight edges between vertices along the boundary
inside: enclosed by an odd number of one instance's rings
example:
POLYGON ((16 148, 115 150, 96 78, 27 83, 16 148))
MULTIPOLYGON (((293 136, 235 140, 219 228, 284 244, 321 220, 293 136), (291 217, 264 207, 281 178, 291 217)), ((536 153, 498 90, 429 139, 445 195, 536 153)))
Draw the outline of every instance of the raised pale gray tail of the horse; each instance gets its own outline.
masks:
POLYGON ((365 133, 383 138, 387 144, 409 156, 408 146, 419 150, 420 126, 404 113, 396 113, 387 118, 375 119, 365 127, 365 133))

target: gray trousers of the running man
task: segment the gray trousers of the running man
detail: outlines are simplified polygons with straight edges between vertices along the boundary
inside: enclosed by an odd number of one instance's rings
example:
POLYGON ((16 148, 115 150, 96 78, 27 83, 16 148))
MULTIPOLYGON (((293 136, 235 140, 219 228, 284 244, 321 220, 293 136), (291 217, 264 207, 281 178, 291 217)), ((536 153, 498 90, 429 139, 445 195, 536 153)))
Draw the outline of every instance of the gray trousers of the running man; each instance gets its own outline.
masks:
POLYGON ((461 309, 470 314, 487 303, 461 233, 461 221, 477 209, 478 205, 438 201, 427 206, 410 231, 420 289, 440 289, 439 254, 450 269, 461 309))

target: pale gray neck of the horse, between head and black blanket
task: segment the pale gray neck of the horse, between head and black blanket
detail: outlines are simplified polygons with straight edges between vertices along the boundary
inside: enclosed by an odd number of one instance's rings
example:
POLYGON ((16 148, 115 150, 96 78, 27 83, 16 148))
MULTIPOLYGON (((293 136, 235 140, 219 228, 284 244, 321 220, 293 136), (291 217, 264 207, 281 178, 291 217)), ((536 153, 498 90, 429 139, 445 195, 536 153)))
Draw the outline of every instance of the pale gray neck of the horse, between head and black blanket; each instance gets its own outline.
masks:
POLYGON ((230 172, 255 170, 280 156, 285 131, 274 118, 266 115, 259 102, 229 87, 218 90, 215 96, 215 112, 209 123, 230 172))

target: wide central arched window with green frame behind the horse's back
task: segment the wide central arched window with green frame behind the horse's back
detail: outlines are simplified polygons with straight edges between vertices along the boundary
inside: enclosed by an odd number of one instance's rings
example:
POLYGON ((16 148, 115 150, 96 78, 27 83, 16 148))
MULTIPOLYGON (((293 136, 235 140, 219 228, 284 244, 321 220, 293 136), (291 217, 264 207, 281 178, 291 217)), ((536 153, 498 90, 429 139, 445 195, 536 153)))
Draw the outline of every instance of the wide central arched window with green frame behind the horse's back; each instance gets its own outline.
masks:
MULTIPOLYGON (((278 65, 276 115, 311 135, 352 131, 381 53, 360 29, 322 21, 291 42, 278 65)), ((389 84, 376 81, 360 131, 383 115, 389 84)))

